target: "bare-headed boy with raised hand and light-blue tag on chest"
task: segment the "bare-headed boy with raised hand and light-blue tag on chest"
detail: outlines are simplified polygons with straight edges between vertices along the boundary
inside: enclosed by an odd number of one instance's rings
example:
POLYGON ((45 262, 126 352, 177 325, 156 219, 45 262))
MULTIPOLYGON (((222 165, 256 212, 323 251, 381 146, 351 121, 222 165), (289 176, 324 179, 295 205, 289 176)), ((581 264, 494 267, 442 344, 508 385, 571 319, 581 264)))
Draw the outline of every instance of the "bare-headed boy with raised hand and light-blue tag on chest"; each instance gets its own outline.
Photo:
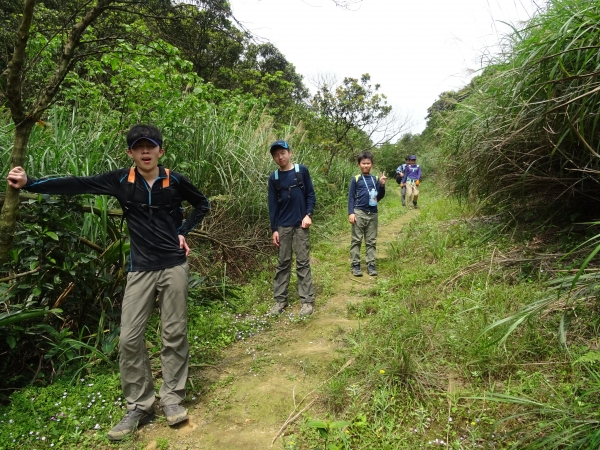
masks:
POLYGON ((352 177, 348 189, 348 220, 352 224, 350 258, 352 275, 362 277, 360 269, 360 247, 365 240, 367 273, 377 276, 375 251, 377 247, 377 203, 385 196, 385 173, 379 178, 371 175, 373 154, 358 155, 360 174, 352 177))

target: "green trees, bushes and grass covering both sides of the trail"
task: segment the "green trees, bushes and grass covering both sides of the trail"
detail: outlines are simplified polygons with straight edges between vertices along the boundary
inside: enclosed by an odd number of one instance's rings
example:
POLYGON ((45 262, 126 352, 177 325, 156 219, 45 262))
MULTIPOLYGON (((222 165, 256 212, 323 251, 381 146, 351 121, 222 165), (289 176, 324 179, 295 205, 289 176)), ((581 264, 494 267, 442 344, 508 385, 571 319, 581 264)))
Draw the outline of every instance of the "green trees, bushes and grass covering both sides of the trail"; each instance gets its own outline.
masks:
MULTIPOLYGON (((23 49, 35 70, 24 72, 19 97, 6 74, 26 15, 19 2, 0 2, 0 187, 18 158, 34 177, 128 166, 127 129, 158 125, 163 164, 212 205, 190 236, 194 367, 271 326, 272 141, 288 140, 310 168, 314 257, 338 263, 347 249, 332 241, 348 227, 355 155, 373 150, 388 175, 409 154, 423 167, 418 215, 394 231, 375 286, 347 304, 343 314, 360 327, 337 337, 343 349, 320 400, 289 426, 284 448, 600 446, 600 1, 550 0, 468 86, 440 94, 422 133, 397 141, 401 124, 390 127, 391 108, 367 73, 323 82, 311 97, 275 46, 235 25, 227 2, 104 2, 114 8, 85 30, 41 109, 61 36, 90 3, 38 2, 23 49), (373 142, 382 126, 395 131, 373 142)), ((397 189, 390 176, 383 222, 405 211, 397 189)), ((6 192, 0 449, 108 445, 104 430, 124 406, 122 213, 110 198, 22 192, 15 203, 6 192)), ((319 301, 334 282, 325 275, 319 301)), ((159 379, 156 316, 146 341, 159 379)), ((210 389, 195 374, 188 402, 210 389)))

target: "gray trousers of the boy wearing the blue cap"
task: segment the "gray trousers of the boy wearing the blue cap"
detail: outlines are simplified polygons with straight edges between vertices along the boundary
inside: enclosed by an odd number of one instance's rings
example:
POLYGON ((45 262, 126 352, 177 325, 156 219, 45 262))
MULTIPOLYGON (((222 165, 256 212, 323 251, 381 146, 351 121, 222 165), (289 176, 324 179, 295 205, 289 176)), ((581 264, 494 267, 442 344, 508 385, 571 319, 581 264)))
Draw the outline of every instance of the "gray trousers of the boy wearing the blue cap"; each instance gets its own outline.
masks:
POLYGON ((308 228, 279 227, 279 260, 273 281, 276 302, 287 302, 292 269, 292 249, 296 254, 298 295, 302 303, 314 303, 315 291, 310 272, 310 242, 308 228))

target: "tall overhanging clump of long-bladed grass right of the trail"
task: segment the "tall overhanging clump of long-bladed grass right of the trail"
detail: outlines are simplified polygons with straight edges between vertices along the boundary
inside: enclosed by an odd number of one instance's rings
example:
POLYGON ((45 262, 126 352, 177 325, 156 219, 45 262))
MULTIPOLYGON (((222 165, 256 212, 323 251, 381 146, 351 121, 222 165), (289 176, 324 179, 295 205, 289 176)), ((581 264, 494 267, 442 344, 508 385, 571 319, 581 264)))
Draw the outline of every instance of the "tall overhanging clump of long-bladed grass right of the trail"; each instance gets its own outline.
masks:
POLYGON ((600 2, 551 0, 448 117, 455 193, 536 217, 597 210, 599 109, 600 2))

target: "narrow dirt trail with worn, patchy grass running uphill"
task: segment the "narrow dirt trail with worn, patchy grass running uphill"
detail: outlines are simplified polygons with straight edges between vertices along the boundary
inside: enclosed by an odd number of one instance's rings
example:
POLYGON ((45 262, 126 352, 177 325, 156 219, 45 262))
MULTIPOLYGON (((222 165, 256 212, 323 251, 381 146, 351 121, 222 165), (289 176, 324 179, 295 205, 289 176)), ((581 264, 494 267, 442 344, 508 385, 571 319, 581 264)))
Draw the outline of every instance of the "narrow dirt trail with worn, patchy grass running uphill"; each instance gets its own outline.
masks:
MULTIPOLYGON (((380 223, 378 259, 385 257, 385 243, 393 241, 415 213, 380 223)), ((349 239, 347 234, 340 236, 339 245, 348 247, 349 239)), ((317 297, 315 313, 308 320, 290 322, 282 316, 268 332, 228 349, 218 368, 202 374, 207 385, 216 383, 216 387, 189 408, 189 423, 169 428, 159 421, 142 428, 139 433, 145 448, 164 448, 159 444, 165 439, 169 449, 177 450, 271 448, 291 413, 307 406, 333 375, 330 364, 337 357, 341 338, 358 324, 347 318, 347 302, 360 301, 360 291, 376 283, 366 274, 353 281, 346 259, 333 270, 334 296, 325 304, 317 297)), ((297 304, 288 307, 295 314, 298 309, 297 304)), ((280 438, 273 448, 281 448, 280 438)))

